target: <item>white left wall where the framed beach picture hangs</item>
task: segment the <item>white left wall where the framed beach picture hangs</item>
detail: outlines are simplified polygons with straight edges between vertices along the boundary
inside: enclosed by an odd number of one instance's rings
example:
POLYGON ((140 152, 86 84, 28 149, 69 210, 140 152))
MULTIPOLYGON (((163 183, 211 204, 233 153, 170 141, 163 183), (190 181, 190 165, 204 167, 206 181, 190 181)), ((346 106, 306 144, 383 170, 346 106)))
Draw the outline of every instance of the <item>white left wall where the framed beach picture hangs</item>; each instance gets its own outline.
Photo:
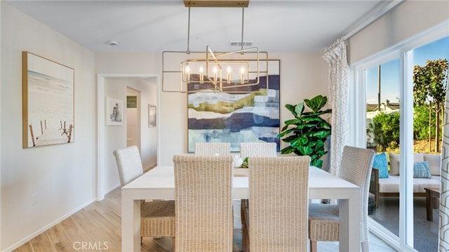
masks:
POLYGON ((93 199, 95 55, 1 4, 1 251, 93 199), (75 142, 22 149, 22 51, 74 68, 75 142), (32 204, 37 193, 38 204, 32 204))

